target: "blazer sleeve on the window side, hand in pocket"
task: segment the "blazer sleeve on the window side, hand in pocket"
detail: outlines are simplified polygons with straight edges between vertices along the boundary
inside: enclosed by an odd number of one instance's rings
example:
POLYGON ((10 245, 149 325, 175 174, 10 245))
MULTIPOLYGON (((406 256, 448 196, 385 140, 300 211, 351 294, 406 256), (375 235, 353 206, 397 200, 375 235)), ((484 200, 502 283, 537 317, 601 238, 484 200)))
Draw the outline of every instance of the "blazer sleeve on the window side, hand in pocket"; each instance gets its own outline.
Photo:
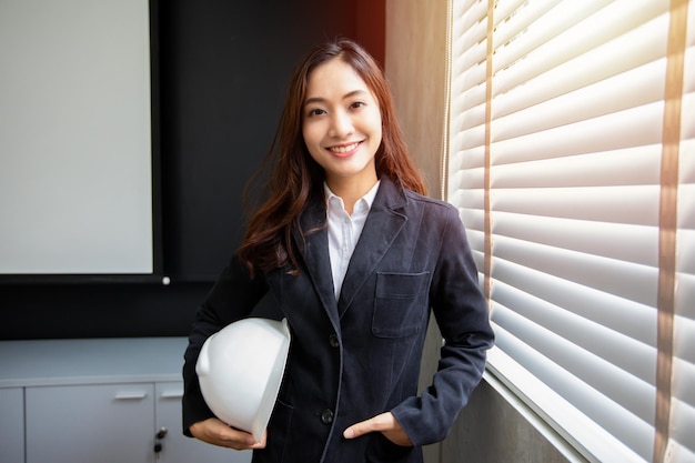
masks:
POLYGON ((480 383, 486 350, 494 344, 487 303, 477 283, 465 230, 449 207, 431 286, 431 304, 444 345, 432 384, 392 410, 415 445, 446 437, 480 383))

